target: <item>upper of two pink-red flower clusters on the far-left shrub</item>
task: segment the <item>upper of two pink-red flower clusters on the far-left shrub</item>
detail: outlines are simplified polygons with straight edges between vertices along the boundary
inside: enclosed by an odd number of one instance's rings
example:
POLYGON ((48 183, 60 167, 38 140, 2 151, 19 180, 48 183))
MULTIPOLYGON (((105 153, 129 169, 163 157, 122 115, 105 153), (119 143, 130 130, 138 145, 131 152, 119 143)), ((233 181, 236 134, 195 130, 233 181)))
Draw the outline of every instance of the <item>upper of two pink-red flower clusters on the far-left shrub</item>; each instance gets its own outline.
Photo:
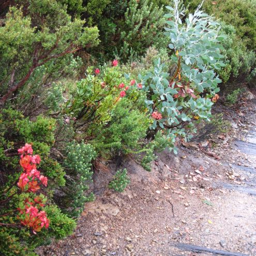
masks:
POLYGON ((24 147, 18 149, 18 153, 21 155, 20 165, 23 169, 23 173, 19 178, 18 187, 28 192, 36 192, 40 189, 38 180, 44 186, 47 186, 48 178, 41 175, 37 170, 36 164, 39 164, 41 159, 38 155, 32 155, 32 145, 26 143, 24 147))

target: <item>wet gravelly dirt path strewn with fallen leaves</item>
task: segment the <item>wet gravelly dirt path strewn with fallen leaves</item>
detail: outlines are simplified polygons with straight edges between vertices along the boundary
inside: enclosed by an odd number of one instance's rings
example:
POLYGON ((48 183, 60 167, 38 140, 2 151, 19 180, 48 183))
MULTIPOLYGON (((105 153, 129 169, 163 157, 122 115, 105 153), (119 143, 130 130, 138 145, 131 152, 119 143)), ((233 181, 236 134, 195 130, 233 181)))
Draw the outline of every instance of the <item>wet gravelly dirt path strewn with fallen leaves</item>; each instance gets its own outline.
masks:
POLYGON ((125 192, 96 182, 97 199, 86 204, 75 234, 40 254, 213 255, 177 248, 182 243, 256 255, 255 104, 248 113, 250 121, 216 138, 220 160, 185 147, 177 156, 159 154, 150 173, 124 160, 131 178, 125 192))

